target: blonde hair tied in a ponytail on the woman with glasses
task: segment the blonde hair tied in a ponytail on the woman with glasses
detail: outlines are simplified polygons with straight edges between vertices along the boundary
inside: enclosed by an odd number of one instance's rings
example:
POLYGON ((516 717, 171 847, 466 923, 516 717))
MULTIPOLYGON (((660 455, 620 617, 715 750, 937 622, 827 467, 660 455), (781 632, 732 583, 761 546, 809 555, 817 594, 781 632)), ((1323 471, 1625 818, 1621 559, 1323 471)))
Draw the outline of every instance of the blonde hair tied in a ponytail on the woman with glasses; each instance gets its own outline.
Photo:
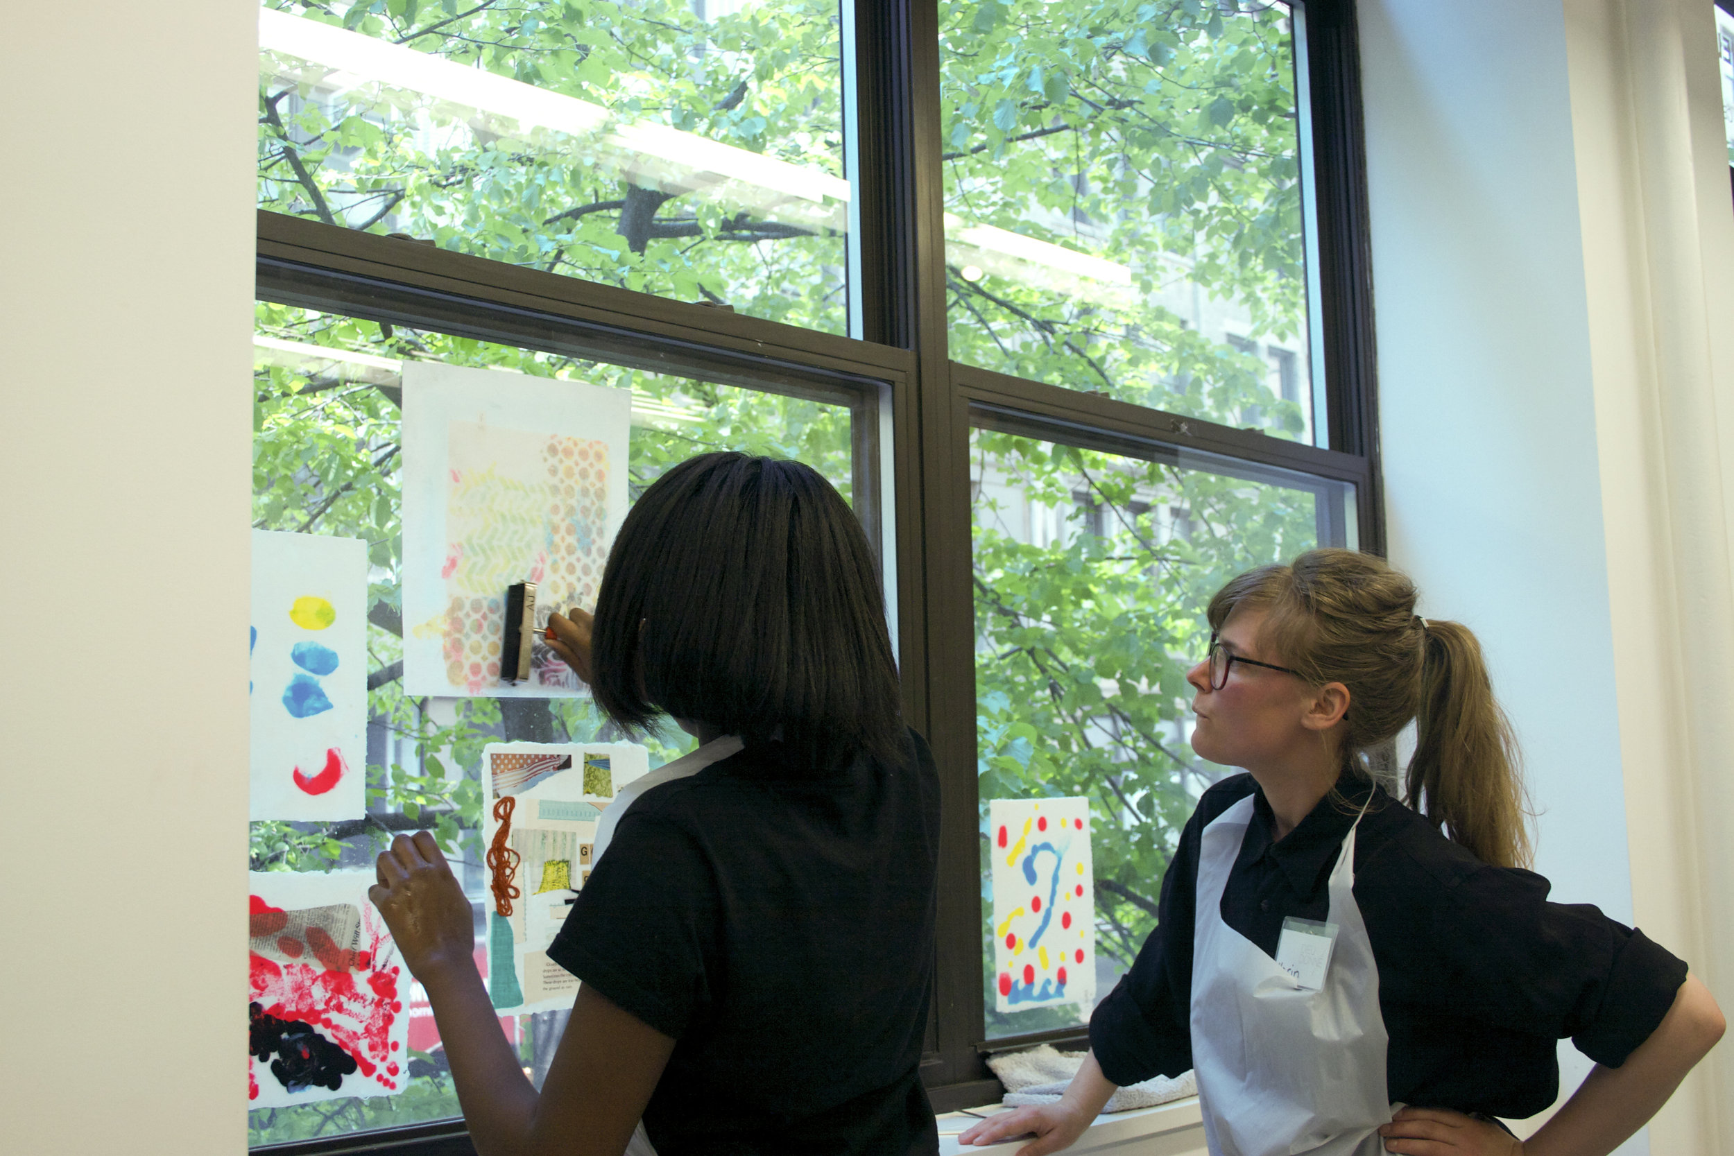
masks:
POLYGON ((1517 745, 1469 627, 1418 619, 1415 584, 1353 549, 1231 579, 1210 600, 1210 627, 1242 605, 1269 612, 1264 641, 1302 678, 1349 688, 1346 770, 1365 776, 1372 752, 1415 719, 1405 802, 1483 863, 1528 867, 1517 745))

